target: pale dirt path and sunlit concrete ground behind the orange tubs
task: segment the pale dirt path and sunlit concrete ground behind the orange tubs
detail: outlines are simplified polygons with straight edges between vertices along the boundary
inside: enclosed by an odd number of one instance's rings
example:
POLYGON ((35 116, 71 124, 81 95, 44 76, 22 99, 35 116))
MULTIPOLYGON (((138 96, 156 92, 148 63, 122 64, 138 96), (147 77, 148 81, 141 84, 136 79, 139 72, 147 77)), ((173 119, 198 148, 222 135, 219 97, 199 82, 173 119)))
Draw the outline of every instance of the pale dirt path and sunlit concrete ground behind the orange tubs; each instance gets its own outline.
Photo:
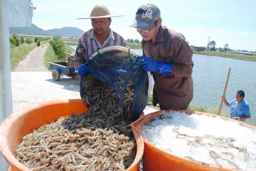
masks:
MULTIPOLYGON (((79 83, 67 77, 52 79, 44 66, 44 54, 49 44, 35 47, 11 73, 13 112, 26 106, 51 100, 80 99, 79 83)), ((146 108, 144 113, 154 112, 146 108)))

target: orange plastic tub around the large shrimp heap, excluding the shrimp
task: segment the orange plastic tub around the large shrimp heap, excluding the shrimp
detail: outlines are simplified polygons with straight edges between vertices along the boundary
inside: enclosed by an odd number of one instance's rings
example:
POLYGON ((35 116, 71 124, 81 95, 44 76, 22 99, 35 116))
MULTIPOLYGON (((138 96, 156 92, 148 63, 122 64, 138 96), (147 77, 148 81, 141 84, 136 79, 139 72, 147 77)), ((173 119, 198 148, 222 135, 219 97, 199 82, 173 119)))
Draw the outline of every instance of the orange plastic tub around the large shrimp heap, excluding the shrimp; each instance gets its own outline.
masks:
MULTIPOLYGON (((87 110, 88 108, 82 104, 81 100, 61 100, 35 104, 11 114, 0 126, 0 152, 10 164, 11 170, 30 170, 19 163, 12 154, 25 135, 61 116, 87 110)), ((137 154, 132 165, 126 170, 139 170, 144 149, 143 139, 134 126, 132 130, 137 143, 137 154)))

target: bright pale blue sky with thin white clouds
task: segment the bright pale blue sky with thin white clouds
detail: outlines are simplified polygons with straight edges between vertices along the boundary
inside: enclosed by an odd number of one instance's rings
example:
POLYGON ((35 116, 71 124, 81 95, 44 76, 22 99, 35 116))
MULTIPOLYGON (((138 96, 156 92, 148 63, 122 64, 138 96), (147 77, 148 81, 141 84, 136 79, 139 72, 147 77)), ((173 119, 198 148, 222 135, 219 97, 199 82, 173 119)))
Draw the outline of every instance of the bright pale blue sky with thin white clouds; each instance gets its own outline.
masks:
POLYGON ((256 51, 256 1, 66 1, 32 0, 36 7, 32 22, 44 29, 77 27, 83 31, 92 28, 90 19, 76 19, 89 16, 93 7, 103 4, 113 17, 111 29, 125 39, 139 39, 136 29, 129 27, 135 18, 137 8, 153 3, 161 11, 162 24, 182 33, 190 45, 206 46, 208 37, 216 41, 217 47, 225 43, 234 50, 256 51))

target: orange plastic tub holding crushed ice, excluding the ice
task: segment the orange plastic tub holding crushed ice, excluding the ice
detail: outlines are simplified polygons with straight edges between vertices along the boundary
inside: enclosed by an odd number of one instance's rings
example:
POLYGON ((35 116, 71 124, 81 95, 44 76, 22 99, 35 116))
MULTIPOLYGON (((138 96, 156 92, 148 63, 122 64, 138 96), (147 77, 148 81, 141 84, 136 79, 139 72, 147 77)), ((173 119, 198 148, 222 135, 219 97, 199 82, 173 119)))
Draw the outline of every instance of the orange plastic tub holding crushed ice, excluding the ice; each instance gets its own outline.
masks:
MULTIPOLYGON (((197 112, 197 111, 189 111, 189 110, 178 110, 179 112, 185 112, 187 114, 195 113, 195 114, 205 114, 209 116, 215 116, 215 117, 222 117, 228 120, 237 121, 239 124, 244 125, 246 127, 254 128, 256 127, 242 123, 241 121, 234 120, 231 118, 211 114, 211 113, 204 113, 204 112, 197 112)), ((148 123, 149 121, 153 121, 155 119, 155 116, 162 115, 164 111, 157 111, 151 114, 147 114, 144 117, 139 118, 133 123, 133 126, 135 126, 140 134, 142 135, 141 131, 143 129, 144 124, 148 123)), ((168 110, 166 112, 169 112, 168 110)), ((148 142, 147 140, 143 139, 144 141, 144 154, 143 154, 143 170, 146 171, 194 171, 194 170, 232 170, 232 169, 226 169, 221 168, 216 165, 202 165, 190 160, 187 160, 185 158, 181 158, 169 153, 166 153, 160 149, 158 149, 156 146, 154 146, 152 143, 148 142)))

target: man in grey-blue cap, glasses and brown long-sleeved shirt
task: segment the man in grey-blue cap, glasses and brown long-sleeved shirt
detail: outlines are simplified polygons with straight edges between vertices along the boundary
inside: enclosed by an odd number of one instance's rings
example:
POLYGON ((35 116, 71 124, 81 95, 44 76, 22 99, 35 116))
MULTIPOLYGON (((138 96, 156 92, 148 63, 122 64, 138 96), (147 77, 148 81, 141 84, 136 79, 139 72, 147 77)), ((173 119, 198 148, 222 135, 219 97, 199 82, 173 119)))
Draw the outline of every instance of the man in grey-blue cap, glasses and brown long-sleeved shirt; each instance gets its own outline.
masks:
POLYGON ((159 103, 161 110, 187 109, 193 99, 193 50, 182 34, 161 23, 156 5, 138 8, 131 27, 143 38, 143 56, 137 57, 136 64, 144 71, 152 71, 154 106, 159 103))

